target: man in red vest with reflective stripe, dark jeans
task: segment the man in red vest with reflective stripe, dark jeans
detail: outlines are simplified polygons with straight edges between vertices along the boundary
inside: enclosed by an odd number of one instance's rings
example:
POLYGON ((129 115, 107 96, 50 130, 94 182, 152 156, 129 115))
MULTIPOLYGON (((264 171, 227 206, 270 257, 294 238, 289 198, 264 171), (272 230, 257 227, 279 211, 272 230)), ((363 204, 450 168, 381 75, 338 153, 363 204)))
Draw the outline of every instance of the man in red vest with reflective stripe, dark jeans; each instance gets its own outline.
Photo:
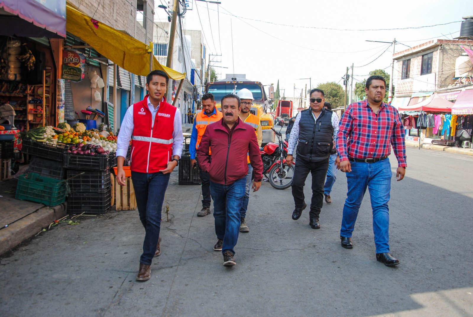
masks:
POLYGON ((168 80, 163 71, 148 74, 146 89, 149 94, 127 109, 117 140, 116 179, 123 186, 123 161, 131 139, 131 181, 146 231, 138 281, 149 280, 151 261, 161 254, 161 208, 169 176, 179 163, 183 147, 181 113, 164 97, 168 80))

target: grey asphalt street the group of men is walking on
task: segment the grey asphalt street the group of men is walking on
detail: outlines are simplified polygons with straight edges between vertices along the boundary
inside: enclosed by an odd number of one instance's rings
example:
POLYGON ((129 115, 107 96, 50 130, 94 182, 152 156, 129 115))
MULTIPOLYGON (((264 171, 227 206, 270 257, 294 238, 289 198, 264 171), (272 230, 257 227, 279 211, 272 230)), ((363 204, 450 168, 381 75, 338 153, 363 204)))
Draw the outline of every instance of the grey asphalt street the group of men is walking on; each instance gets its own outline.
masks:
MULTIPOLYGON (((79 219, 3 257, 0 316, 473 316, 473 157, 408 148, 393 178, 391 253, 375 259, 367 193, 351 250, 340 246, 346 178, 339 172, 321 226, 291 220, 290 189, 251 194, 250 232, 224 267, 213 217, 196 217, 200 186, 171 177, 162 255, 135 281, 144 235, 136 211, 79 219)), ((394 157, 390 157, 395 171, 394 157)), ((309 202, 310 186, 306 186, 309 202)))

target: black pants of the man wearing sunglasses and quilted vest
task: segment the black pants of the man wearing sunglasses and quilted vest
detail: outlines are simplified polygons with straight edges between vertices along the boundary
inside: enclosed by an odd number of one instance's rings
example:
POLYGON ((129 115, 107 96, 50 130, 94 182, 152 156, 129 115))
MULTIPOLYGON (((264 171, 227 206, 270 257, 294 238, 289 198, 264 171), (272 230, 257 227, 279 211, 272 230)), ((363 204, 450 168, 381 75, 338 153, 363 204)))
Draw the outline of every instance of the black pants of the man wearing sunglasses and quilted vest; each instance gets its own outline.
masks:
POLYGON ((327 174, 329 158, 319 162, 296 160, 294 178, 292 179, 292 196, 296 208, 304 206, 304 185, 309 172, 312 174, 312 201, 310 204, 310 219, 319 218, 320 209, 324 202, 324 182, 327 174))

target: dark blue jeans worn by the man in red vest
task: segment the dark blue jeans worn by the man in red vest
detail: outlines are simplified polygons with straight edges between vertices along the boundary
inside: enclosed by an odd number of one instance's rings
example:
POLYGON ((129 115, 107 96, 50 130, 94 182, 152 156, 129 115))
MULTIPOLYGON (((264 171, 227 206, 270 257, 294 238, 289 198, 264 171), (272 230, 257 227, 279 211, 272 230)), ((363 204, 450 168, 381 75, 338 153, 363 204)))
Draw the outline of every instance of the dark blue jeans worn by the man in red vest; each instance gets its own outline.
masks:
POLYGON ((136 205, 140 220, 145 227, 145 240, 140 263, 151 265, 158 245, 161 227, 161 209, 171 174, 131 172, 131 181, 135 189, 136 205), (149 198, 149 199, 148 199, 149 198))

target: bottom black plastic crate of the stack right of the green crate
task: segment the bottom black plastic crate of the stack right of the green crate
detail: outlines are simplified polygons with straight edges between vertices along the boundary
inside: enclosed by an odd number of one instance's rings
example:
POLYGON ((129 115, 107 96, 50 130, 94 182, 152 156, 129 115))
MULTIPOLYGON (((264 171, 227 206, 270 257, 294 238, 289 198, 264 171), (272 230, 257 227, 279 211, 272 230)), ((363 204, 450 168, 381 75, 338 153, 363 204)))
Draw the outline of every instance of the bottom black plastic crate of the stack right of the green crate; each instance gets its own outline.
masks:
POLYGON ((105 214, 111 208, 112 194, 110 190, 104 192, 76 192, 71 191, 67 198, 67 212, 70 214, 105 214))

